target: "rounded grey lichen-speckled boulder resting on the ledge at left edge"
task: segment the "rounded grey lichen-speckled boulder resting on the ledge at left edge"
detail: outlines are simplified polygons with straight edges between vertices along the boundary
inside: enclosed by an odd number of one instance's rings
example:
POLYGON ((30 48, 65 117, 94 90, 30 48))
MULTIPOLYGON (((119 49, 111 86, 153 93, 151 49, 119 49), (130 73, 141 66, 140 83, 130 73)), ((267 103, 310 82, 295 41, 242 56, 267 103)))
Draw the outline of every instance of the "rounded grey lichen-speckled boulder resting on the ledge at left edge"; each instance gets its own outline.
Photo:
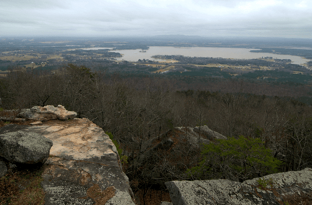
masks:
POLYGON ((45 163, 53 143, 35 132, 8 132, 0 135, 0 156, 12 163, 45 163))

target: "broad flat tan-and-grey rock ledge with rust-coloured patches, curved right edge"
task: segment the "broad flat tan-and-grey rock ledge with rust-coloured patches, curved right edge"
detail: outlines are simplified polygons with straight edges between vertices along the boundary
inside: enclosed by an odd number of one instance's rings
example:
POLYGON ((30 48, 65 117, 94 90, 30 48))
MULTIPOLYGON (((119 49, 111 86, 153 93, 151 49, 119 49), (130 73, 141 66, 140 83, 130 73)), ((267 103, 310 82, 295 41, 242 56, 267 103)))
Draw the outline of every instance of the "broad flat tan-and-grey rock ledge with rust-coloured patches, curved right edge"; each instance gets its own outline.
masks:
POLYGON ((117 149, 88 119, 8 124, 0 134, 36 132, 53 142, 42 173, 45 205, 135 205, 117 149))

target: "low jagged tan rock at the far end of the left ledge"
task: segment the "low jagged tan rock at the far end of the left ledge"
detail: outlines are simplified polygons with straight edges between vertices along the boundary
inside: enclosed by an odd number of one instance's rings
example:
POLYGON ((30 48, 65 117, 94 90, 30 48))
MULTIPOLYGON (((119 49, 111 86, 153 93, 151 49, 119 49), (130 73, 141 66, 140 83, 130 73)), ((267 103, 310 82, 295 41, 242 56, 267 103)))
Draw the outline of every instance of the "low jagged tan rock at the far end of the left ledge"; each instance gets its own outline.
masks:
POLYGON ((62 105, 58 105, 58 107, 54 107, 53 105, 46 105, 44 107, 34 106, 18 114, 18 117, 36 121, 48 121, 56 119, 68 120, 74 119, 76 116, 76 112, 67 111, 62 105))

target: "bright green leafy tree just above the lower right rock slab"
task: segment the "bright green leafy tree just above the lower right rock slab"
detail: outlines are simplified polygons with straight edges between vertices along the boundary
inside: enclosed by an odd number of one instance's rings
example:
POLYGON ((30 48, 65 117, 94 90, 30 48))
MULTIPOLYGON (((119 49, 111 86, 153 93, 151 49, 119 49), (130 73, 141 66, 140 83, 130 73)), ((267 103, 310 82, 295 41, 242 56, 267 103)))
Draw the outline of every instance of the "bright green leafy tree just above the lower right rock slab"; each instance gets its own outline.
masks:
POLYGON ((245 181, 258 174, 276 173, 281 161, 273 158, 272 151, 256 139, 239 136, 238 139, 217 140, 204 144, 202 160, 188 170, 193 179, 229 179, 245 181))

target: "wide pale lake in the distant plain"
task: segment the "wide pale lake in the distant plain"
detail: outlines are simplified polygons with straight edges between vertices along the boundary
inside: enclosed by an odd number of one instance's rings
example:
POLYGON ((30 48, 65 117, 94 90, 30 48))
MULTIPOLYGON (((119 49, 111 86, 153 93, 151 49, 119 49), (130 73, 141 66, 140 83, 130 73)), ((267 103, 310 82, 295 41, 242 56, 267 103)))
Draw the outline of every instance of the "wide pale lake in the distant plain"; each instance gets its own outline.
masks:
MULTIPOLYGON (((89 49, 105 49, 105 48, 89 48, 89 49)), ((88 49, 88 50, 89 50, 88 49)), ((111 49, 111 48, 110 48, 111 49)), ((152 61, 162 61, 154 59, 154 55, 183 55, 189 57, 213 57, 213 58, 227 58, 227 59, 257 59, 261 57, 273 57, 273 59, 291 59, 292 63, 304 64, 311 61, 303 59, 300 56, 278 55, 272 53, 253 53, 249 48, 218 48, 218 47, 173 47, 173 46, 151 46, 146 52, 140 52, 141 49, 136 50, 114 50, 122 57, 117 60, 125 60, 130 62, 137 62, 139 59, 149 59, 152 61)))

